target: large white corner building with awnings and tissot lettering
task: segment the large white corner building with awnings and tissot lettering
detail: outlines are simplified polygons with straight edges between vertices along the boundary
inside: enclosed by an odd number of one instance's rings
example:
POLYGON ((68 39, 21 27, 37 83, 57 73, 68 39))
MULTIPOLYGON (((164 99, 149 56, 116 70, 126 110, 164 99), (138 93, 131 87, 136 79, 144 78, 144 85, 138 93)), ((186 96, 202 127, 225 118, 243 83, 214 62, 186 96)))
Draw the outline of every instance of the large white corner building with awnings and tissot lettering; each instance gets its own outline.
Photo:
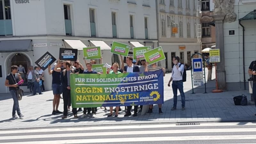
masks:
MULTIPOLYGON (((152 0, 0 0, 0 80, 11 65, 22 64, 26 72, 45 52, 56 59, 59 48, 100 46, 103 63, 120 62, 110 53, 112 41, 131 47, 157 46, 156 2, 152 0)), ((84 65, 85 66, 85 65, 84 65)), ((52 76, 45 73, 45 89, 52 76)), ((27 90, 26 83, 22 86, 27 90)), ((8 92, 0 83, 0 92, 8 92)))

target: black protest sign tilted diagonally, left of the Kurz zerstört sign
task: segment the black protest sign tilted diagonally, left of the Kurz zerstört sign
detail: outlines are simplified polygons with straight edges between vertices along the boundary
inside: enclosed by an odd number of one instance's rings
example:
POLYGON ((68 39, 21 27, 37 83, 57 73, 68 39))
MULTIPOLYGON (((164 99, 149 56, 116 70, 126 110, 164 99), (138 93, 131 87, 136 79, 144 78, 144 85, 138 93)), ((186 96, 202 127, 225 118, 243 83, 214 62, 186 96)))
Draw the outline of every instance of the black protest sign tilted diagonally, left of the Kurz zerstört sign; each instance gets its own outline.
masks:
POLYGON ((43 56, 41 56, 35 63, 41 69, 45 70, 49 65, 51 65, 56 59, 50 54, 46 52, 43 56))

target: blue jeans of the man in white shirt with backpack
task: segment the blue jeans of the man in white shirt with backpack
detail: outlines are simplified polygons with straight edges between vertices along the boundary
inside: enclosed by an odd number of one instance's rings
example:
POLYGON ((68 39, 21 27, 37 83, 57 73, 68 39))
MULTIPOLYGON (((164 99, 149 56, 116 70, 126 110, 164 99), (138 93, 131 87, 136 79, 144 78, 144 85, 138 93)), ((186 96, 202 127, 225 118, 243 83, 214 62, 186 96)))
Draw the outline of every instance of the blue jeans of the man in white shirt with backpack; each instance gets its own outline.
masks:
POLYGON ((181 96, 181 106, 185 107, 185 94, 183 91, 183 82, 182 81, 172 81, 172 91, 173 91, 173 106, 177 106, 177 92, 178 89, 180 91, 180 96, 181 96))

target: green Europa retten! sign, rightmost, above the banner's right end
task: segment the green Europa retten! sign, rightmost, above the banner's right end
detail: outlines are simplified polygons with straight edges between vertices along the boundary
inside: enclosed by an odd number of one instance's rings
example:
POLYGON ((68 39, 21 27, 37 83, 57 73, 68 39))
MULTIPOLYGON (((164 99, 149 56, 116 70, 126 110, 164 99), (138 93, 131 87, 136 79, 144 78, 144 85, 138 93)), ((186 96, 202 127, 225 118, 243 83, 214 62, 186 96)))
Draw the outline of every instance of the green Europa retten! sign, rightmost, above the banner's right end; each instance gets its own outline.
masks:
POLYGON ((161 46, 144 53, 144 56, 149 64, 165 60, 164 51, 161 46))

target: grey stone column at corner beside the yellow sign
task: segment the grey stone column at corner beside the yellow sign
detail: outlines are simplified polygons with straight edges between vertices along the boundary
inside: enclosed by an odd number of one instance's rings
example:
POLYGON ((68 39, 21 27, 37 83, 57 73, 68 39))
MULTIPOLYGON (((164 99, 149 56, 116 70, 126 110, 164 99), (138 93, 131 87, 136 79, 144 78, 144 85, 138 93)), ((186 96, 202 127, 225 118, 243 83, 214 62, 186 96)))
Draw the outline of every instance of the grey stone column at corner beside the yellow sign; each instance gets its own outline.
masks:
POLYGON ((220 49, 220 62, 217 63, 217 78, 220 90, 226 89, 226 72, 224 63, 224 36, 223 20, 226 14, 215 14, 212 17, 215 21, 216 48, 220 49))

